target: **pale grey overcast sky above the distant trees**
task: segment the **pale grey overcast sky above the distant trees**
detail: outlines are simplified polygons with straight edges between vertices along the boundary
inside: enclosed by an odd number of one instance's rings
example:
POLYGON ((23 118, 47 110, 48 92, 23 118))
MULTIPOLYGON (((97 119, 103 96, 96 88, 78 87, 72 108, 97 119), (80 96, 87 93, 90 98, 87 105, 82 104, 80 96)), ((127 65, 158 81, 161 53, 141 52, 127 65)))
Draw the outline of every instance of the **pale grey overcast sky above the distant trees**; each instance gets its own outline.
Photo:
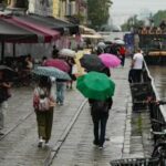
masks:
POLYGON ((122 24, 129 15, 166 10, 166 0, 112 0, 111 15, 114 24, 122 24))

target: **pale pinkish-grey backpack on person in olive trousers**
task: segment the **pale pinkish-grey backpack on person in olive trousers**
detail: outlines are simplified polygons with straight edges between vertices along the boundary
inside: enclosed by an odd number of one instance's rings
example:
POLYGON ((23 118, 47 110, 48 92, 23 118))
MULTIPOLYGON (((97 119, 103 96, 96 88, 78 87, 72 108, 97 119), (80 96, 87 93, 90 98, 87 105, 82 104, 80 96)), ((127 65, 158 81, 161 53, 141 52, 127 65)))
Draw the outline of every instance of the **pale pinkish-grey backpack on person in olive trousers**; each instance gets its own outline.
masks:
POLYGON ((50 108, 50 100, 46 91, 38 89, 39 93, 39 111, 48 111, 50 108))

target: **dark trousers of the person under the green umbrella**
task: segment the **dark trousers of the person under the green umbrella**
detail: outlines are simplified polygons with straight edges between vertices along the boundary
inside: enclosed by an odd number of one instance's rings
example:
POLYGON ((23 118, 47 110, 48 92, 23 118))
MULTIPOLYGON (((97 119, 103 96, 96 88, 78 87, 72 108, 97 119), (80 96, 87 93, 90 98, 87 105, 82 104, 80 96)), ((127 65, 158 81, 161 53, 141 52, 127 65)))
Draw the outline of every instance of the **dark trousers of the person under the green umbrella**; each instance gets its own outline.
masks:
POLYGON ((100 116, 92 115, 93 120, 93 133, 94 133, 94 143, 103 146, 105 142, 105 132, 106 132, 106 123, 107 123, 108 115, 102 114, 100 116))

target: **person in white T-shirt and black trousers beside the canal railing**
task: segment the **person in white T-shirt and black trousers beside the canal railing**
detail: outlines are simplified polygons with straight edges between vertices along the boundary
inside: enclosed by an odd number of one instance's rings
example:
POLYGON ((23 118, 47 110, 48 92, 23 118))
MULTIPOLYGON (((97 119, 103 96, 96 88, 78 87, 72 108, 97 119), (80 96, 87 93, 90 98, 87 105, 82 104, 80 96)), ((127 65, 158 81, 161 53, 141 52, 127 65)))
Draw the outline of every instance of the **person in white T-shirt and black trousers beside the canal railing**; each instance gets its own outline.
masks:
POLYGON ((132 71, 133 71, 133 82, 139 83, 142 81, 142 70, 143 70, 144 56, 142 50, 137 49, 132 60, 132 71))

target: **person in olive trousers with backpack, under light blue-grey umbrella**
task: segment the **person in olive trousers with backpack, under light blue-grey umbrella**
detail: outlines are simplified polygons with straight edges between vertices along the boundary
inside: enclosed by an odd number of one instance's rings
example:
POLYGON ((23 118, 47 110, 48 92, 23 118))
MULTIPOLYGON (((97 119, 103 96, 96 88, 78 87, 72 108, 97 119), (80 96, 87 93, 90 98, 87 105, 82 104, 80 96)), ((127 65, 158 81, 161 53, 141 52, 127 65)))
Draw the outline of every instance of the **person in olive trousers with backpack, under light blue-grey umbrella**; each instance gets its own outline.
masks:
POLYGON ((42 147, 43 142, 49 144, 53 122, 54 94, 51 84, 51 79, 41 76, 39 84, 33 92, 33 107, 37 115, 39 147, 42 147))

